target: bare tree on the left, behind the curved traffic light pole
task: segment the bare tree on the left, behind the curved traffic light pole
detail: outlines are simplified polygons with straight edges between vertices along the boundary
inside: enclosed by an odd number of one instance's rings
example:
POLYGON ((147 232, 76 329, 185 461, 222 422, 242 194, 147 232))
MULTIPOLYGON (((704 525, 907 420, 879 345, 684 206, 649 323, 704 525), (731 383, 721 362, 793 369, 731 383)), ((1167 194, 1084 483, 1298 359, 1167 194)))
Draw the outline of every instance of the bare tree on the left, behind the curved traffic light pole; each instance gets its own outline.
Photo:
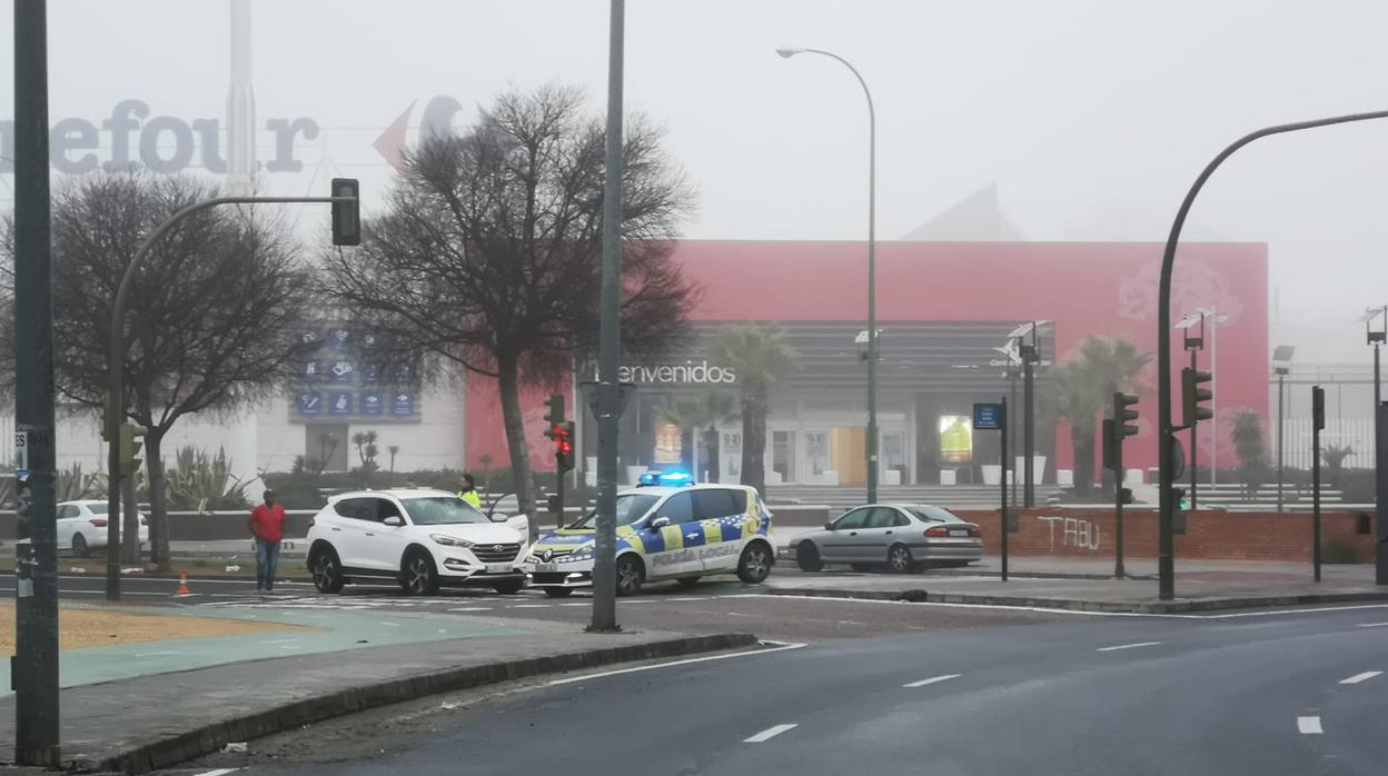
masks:
MULTIPOLYGON (((54 360, 60 396, 99 412, 111 312, 140 242, 179 208, 217 196, 192 178, 87 175, 53 201, 54 360)), ((8 246, 0 240, 0 246, 8 246)), ((12 265, 12 253, 6 253, 12 265)), ((124 414, 149 428, 150 544, 168 565, 161 443, 183 415, 232 411, 283 390, 303 358, 311 282, 282 222, 211 208, 158 240, 135 276, 124 414)))

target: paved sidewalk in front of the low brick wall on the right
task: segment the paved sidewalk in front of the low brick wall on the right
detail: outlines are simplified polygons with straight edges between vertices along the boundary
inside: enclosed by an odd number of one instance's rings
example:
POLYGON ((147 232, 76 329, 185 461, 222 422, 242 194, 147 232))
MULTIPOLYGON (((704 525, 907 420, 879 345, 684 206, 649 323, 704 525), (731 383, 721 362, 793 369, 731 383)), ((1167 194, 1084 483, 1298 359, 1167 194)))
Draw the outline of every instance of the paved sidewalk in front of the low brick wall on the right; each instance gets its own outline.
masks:
POLYGON ((872 598, 887 601, 930 601, 944 604, 985 604, 1008 607, 1042 607, 1076 611, 1178 614, 1213 609, 1241 609, 1295 604, 1344 601, 1388 601, 1388 586, 1374 584, 1374 566, 1359 564, 1323 566, 1319 584, 1312 582, 1309 564, 1264 564, 1251 561, 1190 561, 1176 565, 1176 598, 1158 596, 1156 564, 1141 561, 1127 565, 1128 573, 1142 579, 1113 579, 1112 559, 1108 577, 1098 561, 1062 558, 1026 558, 1009 564, 1009 572, 1023 569, 1067 576, 1023 576, 1002 582, 995 573, 997 559, 988 558, 979 568, 926 571, 916 575, 888 573, 773 573, 766 584, 775 596, 811 596, 872 598), (1095 572, 1095 577, 1085 573, 1095 572))

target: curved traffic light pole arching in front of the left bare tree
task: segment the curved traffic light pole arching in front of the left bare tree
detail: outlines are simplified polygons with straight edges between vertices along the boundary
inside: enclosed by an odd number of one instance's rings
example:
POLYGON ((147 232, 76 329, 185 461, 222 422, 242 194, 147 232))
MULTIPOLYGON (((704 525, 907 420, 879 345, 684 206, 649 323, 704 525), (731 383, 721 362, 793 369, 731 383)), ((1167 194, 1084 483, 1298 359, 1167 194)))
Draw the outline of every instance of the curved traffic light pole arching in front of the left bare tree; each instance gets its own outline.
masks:
MULTIPOLYGON (((25 4, 26 3, 17 3, 15 12, 18 12, 19 6, 25 4)), ((47 158, 47 155, 43 158, 47 158)), ((357 203, 357 197, 214 197, 211 200, 193 203, 176 211, 168 218, 168 221, 160 223, 153 232, 150 232, 149 236, 144 237, 144 242, 140 243, 140 247, 135 251, 135 255, 130 258, 130 264, 125 267, 125 273, 121 275, 121 285, 115 292, 115 304, 111 305, 111 341, 105 358, 107 400, 104 426, 107 441, 110 444, 107 455, 105 511, 107 529, 111 532, 110 540, 107 541, 105 555, 105 598, 108 601, 121 600, 121 421, 125 416, 125 304, 130 296, 130 283, 135 282, 135 272, 140 268, 140 264, 144 262, 144 257, 150 253, 150 247, 153 247, 160 237, 178 226, 178 223, 189 215, 226 204, 266 203, 350 204, 357 203)), ((157 525, 150 526, 151 547, 154 547, 158 540, 155 532, 160 529, 161 526, 157 525)))

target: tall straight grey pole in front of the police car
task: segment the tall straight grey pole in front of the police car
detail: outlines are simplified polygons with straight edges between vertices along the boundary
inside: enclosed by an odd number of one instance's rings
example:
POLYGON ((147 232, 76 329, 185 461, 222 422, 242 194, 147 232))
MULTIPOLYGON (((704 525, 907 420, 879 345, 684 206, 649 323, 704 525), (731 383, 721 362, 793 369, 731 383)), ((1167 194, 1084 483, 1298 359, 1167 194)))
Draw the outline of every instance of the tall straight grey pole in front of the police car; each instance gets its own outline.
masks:
POLYGON ((593 562, 593 633, 616 623, 616 447, 622 346, 622 50, 626 0, 611 0, 608 33, 607 179, 602 186, 602 304, 598 323, 598 515, 593 562))

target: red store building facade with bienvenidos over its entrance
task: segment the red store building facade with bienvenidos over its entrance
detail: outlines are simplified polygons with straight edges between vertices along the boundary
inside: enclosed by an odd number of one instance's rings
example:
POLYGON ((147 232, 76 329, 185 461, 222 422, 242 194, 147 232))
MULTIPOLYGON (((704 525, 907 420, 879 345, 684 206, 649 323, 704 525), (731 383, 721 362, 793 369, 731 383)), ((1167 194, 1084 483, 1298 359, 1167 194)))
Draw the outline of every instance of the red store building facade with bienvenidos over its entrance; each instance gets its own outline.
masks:
MULTIPOLYGON (((884 482, 937 482, 936 469, 960 469, 959 482, 972 482, 972 468, 995 461, 995 444, 974 435, 974 454, 958 461, 941 457, 940 432, 948 418, 967 414, 972 401, 995 400, 1009 391, 1002 376, 1002 346, 1017 323, 1049 321, 1042 332, 1042 357, 1062 364, 1074 357, 1090 335, 1124 337, 1155 354, 1158 243, 880 243, 877 246, 877 318, 880 335, 880 416, 884 482), (891 446, 891 450, 886 447, 891 446), (990 455, 992 457, 990 459, 990 455)), ((865 329, 866 247, 848 242, 725 242, 686 240, 675 248, 686 278, 700 287, 691 312, 695 344, 662 364, 629 369, 638 378, 641 400, 623 416, 623 462, 630 466, 668 462, 668 429, 654 410, 670 396, 709 389, 736 390, 736 378, 720 375, 709 385, 702 348, 720 325, 772 321, 786 326, 802 364, 786 389, 773 397, 768 471, 775 479, 801 483, 849 484, 858 478, 845 469, 861 457, 852 451, 852 429, 865 423, 866 369, 852 336, 865 329), (661 369, 670 366, 670 369, 661 369), (690 379, 694 375, 695 379, 690 379), (682 382, 683 380, 683 382, 682 382), (830 476, 833 475, 833 476, 830 476)), ((1267 247, 1262 243, 1191 243, 1181 247, 1174 271, 1171 315, 1178 321, 1195 308, 1216 308, 1226 322, 1199 354, 1210 368, 1214 351, 1216 423, 1206 423, 1199 441, 1202 464, 1212 443, 1219 464, 1237 465, 1230 429, 1238 410, 1267 411, 1267 247), (1210 348, 1209 346, 1214 347, 1210 348)), ((1209 339, 1209 337, 1208 337, 1209 339)), ((1173 336, 1177 348, 1181 337, 1173 336)), ((1171 373, 1187 353, 1174 353, 1171 373)), ((636 365, 633 365, 636 366, 636 365)), ((1040 369, 1045 383, 1048 372, 1040 369)), ((1130 439, 1130 466, 1156 459, 1156 366, 1144 373, 1151 386, 1138 410, 1141 435, 1130 439)), ((570 386, 561 390, 572 394, 570 386)), ((1042 385, 1042 389, 1044 385, 1042 385)), ((526 428, 532 461, 552 468, 544 444, 543 407, 548 387, 526 398, 526 428)), ((1178 394, 1177 394, 1178 396, 1178 394)), ((473 378, 466 396, 466 455, 476 466, 483 454, 494 465, 508 459, 496 383, 473 378)), ((1020 415, 1017 411, 1015 415, 1020 415)), ((590 418, 584 418, 590 421, 590 418)), ((580 422, 580 436, 591 422, 580 422)), ((725 433, 723 461, 736 461, 740 443, 736 422, 725 433)), ((1183 435, 1184 436, 1184 435, 1183 435)), ((1069 430, 1047 426, 1038 454, 1049 469, 1069 469, 1073 454, 1069 430)), ((594 448, 582 439, 584 450, 594 448)), ((858 441, 861 444, 861 440, 858 441)), ((591 453, 590 453, 591 454, 591 453)), ((725 465, 725 476, 727 466, 725 465)), ((736 472, 734 472, 736 475, 736 472)))

